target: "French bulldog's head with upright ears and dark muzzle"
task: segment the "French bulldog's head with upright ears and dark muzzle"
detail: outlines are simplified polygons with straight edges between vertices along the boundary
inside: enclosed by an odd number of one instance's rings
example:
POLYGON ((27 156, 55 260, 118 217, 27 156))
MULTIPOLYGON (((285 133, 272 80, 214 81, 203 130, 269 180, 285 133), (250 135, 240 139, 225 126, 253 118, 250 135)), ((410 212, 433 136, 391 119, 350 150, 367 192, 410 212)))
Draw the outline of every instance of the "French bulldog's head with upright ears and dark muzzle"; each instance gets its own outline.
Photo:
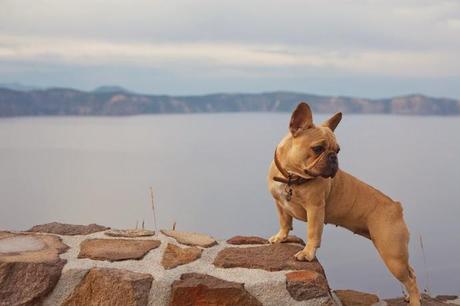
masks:
POLYGON ((337 113, 321 125, 313 124, 308 104, 300 103, 292 113, 289 125, 291 146, 287 152, 290 168, 311 177, 334 177, 339 169, 340 147, 334 130, 342 119, 337 113))

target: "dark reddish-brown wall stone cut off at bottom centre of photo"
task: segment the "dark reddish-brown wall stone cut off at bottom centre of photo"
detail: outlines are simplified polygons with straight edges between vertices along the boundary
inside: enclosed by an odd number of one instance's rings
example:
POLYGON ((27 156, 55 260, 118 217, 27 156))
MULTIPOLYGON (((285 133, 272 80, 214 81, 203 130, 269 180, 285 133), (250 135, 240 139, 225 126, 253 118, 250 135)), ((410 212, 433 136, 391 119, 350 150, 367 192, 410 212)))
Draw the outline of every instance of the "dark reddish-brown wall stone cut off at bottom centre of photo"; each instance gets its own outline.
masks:
POLYGON ((172 284, 170 306, 222 305, 262 306, 244 284, 210 275, 187 273, 172 284))

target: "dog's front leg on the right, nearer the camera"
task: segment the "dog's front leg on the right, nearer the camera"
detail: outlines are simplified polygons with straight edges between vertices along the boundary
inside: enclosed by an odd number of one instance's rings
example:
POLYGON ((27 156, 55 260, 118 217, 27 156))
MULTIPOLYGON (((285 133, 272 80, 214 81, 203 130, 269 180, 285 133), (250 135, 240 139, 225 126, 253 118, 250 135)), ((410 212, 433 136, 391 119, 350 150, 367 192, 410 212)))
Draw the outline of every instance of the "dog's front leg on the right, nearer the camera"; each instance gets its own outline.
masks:
POLYGON ((321 236, 323 235, 325 203, 309 205, 307 207, 307 245, 295 254, 295 258, 301 261, 312 261, 316 256, 316 249, 321 246, 321 236))

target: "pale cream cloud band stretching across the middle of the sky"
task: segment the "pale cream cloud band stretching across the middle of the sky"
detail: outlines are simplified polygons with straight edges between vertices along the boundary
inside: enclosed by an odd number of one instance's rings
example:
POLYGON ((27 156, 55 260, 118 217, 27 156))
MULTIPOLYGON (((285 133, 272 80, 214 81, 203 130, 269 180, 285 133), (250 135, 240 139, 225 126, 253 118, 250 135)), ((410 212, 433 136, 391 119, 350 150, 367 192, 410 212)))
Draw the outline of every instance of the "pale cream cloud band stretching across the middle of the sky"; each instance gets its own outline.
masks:
POLYGON ((249 43, 122 43, 0 35, 0 60, 195 68, 326 69, 352 74, 394 76, 455 76, 456 53, 438 50, 356 50, 340 52, 286 44, 249 43))

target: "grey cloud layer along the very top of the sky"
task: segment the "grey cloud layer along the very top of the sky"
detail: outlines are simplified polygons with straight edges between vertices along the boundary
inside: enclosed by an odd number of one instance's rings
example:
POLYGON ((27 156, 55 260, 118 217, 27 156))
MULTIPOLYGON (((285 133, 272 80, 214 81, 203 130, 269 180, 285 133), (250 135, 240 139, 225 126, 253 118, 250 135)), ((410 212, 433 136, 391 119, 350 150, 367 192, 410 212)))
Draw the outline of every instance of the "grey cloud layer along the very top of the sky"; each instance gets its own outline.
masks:
POLYGON ((447 25, 460 18, 457 0, 3 0, 0 6, 0 29, 17 35, 346 50, 460 44, 447 25))

